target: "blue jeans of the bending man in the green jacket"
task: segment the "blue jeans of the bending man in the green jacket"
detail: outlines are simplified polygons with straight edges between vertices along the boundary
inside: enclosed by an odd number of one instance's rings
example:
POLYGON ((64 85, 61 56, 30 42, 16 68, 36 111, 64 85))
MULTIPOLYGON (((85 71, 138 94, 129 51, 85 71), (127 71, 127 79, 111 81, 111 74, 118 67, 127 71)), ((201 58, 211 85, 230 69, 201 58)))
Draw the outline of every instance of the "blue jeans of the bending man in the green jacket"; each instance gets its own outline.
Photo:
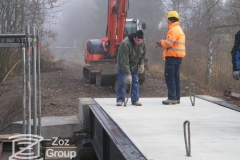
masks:
MULTIPOLYGON (((138 68, 132 73, 132 90, 131 101, 135 103, 139 100, 139 82, 138 82, 138 68)), ((117 102, 124 102, 126 92, 126 74, 118 71, 118 84, 117 84, 117 102)))

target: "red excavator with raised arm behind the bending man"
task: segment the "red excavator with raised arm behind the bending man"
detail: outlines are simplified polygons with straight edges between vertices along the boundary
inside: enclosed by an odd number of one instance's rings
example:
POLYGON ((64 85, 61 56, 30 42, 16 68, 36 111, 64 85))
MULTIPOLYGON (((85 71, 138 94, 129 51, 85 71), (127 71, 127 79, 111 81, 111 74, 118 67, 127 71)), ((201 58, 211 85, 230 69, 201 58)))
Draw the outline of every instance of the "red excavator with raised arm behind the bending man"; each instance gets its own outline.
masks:
MULTIPOLYGON (((128 0, 109 0, 107 37, 89 39, 85 46, 85 63, 83 76, 90 83, 101 86, 115 86, 117 84, 117 69, 114 54, 120 43, 127 35, 139 29, 146 29, 146 24, 138 19, 127 19, 128 0)), ((145 59, 145 68, 148 69, 148 60, 145 59)), ((139 82, 145 81, 145 71, 139 74, 139 82)))

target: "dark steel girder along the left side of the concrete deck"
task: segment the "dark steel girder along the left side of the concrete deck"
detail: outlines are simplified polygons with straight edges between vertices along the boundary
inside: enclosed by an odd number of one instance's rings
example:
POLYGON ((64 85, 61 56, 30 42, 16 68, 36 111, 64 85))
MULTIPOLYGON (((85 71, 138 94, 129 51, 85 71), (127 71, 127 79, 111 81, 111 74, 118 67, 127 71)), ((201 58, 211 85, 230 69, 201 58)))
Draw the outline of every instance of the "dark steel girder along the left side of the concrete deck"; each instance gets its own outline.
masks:
POLYGON ((147 160, 99 105, 89 105, 90 140, 99 160, 147 160))

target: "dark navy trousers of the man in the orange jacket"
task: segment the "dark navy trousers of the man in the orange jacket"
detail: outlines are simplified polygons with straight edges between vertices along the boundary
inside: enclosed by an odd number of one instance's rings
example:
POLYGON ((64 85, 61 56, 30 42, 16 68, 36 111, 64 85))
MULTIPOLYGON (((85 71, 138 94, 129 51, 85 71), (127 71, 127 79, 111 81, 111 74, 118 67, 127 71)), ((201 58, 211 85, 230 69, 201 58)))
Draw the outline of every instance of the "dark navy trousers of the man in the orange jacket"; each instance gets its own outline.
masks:
POLYGON ((180 100, 180 64, 181 58, 166 57, 164 77, 168 88, 169 100, 180 100))

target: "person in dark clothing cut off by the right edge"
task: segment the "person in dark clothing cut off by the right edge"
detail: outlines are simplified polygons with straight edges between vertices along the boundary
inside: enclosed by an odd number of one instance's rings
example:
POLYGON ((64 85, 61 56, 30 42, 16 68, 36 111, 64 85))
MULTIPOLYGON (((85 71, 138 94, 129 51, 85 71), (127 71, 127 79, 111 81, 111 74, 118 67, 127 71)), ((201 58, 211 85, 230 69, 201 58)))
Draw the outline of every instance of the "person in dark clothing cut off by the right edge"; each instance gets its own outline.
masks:
POLYGON ((231 51, 233 64, 233 78, 239 80, 240 76, 240 30, 235 34, 234 46, 231 51))

